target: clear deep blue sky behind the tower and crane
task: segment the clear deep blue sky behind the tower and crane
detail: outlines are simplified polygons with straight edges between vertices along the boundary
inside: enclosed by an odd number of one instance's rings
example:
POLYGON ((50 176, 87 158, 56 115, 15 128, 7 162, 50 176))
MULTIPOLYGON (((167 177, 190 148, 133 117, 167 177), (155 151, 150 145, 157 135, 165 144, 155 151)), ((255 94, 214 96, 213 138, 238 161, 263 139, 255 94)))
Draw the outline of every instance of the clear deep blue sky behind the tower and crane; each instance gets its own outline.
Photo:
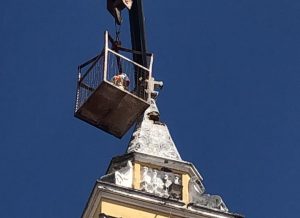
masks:
MULTIPOLYGON (((300 2, 144 7, 162 120, 207 192, 246 217, 298 217, 300 2)), ((119 140, 73 117, 77 65, 106 29, 104 0, 0 2, 0 217, 80 217, 125 152, 130 133, 119 140)))

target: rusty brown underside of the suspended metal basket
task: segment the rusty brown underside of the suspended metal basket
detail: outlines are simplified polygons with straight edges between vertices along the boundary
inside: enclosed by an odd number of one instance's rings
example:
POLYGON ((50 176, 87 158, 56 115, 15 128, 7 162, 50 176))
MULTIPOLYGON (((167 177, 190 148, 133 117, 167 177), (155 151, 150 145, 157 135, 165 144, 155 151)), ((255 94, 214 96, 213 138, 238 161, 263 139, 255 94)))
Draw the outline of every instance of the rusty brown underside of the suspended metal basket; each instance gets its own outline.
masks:
POLYGON ((121 138, 147 107, 146 101, 103 81, 75 116, 121 138))

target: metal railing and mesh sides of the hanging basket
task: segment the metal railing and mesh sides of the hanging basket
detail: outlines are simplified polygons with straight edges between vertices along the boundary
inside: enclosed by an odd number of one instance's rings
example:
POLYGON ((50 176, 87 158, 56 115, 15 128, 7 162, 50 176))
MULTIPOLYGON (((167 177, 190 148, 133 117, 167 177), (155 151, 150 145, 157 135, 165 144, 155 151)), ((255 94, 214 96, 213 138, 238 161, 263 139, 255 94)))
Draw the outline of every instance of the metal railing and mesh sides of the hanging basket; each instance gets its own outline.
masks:
MULTIPOLYGON (((144 75, 147 80, 152 77, 153 55, 147 54, 149 66, 144 67, 129 58, 132 51, 120 49, 116 52, 112 48, 113 42, 108 32, 105 32, 104 49, 96 57, 78 67, 78 85, 75 111, 77 111, 101 82, 109 82, 117 88, 136 95, 137 75, 144 75), (109 43, 111 42, 111 43, 109 43)), ((146 91, 138 97, 147 100, 146 91)))

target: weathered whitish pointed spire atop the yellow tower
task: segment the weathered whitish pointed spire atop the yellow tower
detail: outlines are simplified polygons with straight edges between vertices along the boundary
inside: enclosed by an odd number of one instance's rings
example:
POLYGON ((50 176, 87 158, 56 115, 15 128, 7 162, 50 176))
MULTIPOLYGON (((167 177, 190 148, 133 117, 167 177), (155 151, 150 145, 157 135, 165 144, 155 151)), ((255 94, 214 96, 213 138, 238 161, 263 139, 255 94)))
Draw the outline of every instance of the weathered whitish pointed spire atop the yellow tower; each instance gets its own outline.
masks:
POLYGON ((182 161, 167 125, 160 122, 154 99, 151 99, 150 107, 137 122, 127 148, 127 153, 130 152, 182 161))

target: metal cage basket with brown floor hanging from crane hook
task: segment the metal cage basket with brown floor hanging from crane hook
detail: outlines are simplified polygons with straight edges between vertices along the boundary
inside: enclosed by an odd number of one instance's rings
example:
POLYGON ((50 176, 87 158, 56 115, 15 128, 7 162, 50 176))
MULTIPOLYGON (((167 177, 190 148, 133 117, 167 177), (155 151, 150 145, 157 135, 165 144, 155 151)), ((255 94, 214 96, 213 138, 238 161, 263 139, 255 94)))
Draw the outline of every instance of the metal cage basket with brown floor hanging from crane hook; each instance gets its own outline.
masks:
POLYGON ((136 95, 135 75, 147 73, 141 66, 108 47, 78 67, 75 117, 121 138, 149 107, 145 96, 136 95))

